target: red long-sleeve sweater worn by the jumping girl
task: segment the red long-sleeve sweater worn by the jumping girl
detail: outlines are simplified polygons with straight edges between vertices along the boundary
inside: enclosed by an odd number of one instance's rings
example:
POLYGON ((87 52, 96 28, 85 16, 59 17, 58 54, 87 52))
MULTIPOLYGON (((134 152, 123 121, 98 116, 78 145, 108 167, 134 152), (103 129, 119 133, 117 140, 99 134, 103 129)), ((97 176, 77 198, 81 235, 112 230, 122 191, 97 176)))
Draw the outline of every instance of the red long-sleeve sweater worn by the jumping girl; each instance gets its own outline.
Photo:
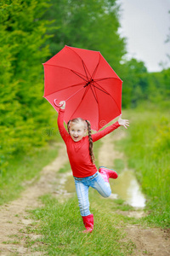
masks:
MULTIPOLYGON (((97 167, 92 163, 90 158, 88 136, 82 137, 82 140, 79 142, 74 142, 69 133, 65 130, 64 114, 65 109, 60 108, 58 117, 59 133, 67 148, 73 176, 88 177, 94 175, 94 173, 97 172, 97 167)), ((106 127, 103 131, 98 131, 92 134, 93 142, 105 137, 105 135, 111 133, 111 131, 114 131, 119 126, 119 123, 116 122, 115 124, 106 127)))

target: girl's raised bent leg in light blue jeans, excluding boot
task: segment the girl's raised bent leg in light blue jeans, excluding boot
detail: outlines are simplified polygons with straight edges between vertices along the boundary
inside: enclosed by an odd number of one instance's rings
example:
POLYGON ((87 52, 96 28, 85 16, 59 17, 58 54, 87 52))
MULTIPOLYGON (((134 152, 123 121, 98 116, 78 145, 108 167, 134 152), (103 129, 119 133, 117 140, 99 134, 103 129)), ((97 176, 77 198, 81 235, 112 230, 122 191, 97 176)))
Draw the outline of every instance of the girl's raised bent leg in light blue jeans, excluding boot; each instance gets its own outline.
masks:
POLYGON ((105 182, 99 172, 96 172, 94 179, 91 181, 90 186, 96 189, 103 197, 109 197, 111 195, 110 183, 105 182))

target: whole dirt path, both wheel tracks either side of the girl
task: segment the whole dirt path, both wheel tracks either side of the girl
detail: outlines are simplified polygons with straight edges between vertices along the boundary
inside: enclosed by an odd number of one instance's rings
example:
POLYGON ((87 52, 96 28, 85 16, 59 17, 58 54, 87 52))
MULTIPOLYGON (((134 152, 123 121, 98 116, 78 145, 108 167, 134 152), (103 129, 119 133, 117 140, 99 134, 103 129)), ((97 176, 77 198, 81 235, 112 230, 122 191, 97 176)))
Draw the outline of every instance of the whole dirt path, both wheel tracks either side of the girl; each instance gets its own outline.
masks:
MULTIPOLYGON (((115 135, 108 135, 102 140, 103 144, 99 149, 99 165, 112 166, 114 158, 123 158, 123 154, 116 151, 113 140, 124 136, 122 131, 115 135)), ((32 183, 27 188, 20 199, 4 205, 0 210, 0 255, 42 255, 42 253, 31 253, 26 247, 26 236, 31 239, 38 238, 31 235, 27 228, 31 226, 32 220, 28 218, 27 210, 40 207, 41 202, 38 197, 47 193, 53 193, 60 198, 64 198, 68 193, 63 189, 66 177, 70 173, 56 177, 56 172, 67 163, 65 145, 59 144, 59 155, 50 165, 42 169, 41 177, 37 183, 32 183), (56 189, 57 188, 57 189, 56 189), (62 195, 62 196, 61 196, 62 195), (16 242, 14 242, 14 240, 16 242), (5 242, 6 241, 6 242, 5 242), (17 242, 20 241, 20 242, 17 242), (4 243, 5 242, 5 243, 4 243)), ((132 212, 124 212, 130 216, 132 212)), ((133 217, 139 218, 139 212, 133 211, 133 217)), ((170 255, 170 241, 165 233, 160 229, 144 229, 140 225, 127 225, 127 237, 130 238, 136 248, 134 255, 170 255)))

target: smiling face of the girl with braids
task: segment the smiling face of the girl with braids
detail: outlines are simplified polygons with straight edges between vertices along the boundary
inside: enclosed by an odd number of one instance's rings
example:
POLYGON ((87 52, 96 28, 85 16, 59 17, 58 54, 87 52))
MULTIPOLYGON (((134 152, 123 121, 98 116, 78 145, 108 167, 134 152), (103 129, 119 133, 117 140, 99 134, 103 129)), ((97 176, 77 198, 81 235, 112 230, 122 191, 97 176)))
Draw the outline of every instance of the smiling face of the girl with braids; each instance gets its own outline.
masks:
POLYGON ((73 141, 77 143, 86 135, 87 130, 82 123, 71 123, 69 132, 73 141))

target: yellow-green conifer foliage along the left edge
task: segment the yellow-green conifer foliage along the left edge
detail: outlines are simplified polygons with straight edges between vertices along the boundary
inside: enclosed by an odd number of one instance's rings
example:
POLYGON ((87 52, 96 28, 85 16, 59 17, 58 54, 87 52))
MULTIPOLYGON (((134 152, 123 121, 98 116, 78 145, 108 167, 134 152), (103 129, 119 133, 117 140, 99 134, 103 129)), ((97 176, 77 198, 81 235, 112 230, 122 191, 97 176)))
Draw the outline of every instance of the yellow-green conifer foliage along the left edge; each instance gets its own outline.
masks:
POLYGON ((50 123, 42 99, 42 61, 49 55, 47 22, 40 20, 47 3, 14 0, 0 3, 0 163, 44 145, 42 128, 50 123))

